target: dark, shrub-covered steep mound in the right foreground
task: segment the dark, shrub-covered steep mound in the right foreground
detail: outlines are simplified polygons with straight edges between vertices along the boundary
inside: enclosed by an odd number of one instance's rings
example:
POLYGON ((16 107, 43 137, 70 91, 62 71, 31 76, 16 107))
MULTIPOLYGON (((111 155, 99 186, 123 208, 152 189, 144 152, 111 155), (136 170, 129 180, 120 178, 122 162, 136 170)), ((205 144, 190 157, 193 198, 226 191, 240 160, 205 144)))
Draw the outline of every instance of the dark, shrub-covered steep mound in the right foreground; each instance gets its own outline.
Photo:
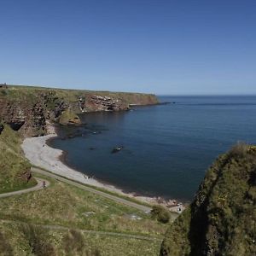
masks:
POLYGON ((256 255, 256 148, 239 144, 215 161, 160 255, 256 255))

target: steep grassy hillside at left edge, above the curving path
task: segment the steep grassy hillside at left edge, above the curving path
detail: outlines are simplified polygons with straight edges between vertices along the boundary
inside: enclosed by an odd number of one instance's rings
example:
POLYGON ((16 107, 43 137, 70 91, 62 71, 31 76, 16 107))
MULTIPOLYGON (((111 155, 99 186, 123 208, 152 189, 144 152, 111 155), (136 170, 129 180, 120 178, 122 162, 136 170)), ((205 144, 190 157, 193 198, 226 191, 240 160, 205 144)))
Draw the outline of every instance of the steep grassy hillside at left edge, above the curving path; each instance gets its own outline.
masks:
POLYGON ((36 184, 33 178, 26 183, 26 179, 20 177, 30 170, 29 162, 21 154, 20 143, 19 135, 4 125, 0 135, 0 193, 26 189, 36 184))

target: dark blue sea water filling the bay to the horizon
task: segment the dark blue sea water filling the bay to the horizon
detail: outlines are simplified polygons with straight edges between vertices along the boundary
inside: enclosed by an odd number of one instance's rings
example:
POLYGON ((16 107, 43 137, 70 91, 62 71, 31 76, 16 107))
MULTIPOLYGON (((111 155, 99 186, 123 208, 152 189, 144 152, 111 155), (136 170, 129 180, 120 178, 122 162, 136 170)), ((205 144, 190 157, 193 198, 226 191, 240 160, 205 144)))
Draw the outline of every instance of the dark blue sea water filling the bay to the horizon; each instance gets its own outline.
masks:
POLYGON ((191 201, 207 168, 235 143, 256 143, 256 96, 161 96, 167 105, 84 113, 50 142, 80 172, 139 195, 191 201), (116 146, 124 149, 112 154, 116 146))

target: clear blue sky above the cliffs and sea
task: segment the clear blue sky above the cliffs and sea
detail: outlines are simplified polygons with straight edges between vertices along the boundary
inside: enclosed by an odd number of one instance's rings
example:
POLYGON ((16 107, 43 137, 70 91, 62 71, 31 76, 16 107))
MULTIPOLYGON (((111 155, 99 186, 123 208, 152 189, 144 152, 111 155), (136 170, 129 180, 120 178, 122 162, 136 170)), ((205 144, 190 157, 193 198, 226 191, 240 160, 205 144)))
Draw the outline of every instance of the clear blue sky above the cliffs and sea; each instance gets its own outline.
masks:
POLYGON ((0 83, 256 94, 256 1, 0 0, 0 83))

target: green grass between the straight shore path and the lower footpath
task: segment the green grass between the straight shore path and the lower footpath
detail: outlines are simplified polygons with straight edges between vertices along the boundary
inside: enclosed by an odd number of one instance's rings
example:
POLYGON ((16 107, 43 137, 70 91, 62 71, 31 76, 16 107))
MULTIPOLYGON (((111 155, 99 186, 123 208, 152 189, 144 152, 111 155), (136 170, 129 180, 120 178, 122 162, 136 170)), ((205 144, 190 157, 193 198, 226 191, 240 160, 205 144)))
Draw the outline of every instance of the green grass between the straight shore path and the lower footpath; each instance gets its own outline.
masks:
POLYGON ((135 208, 49 177, 47 179, 51 183, 47 189, 2 199, 0 218, 19 219, 31 224, 59 224, 78 229, 119 231, 145 236, 163 236, 166 231, 166 225, 157 223, 150 215, 135 208), (129 218, 132 213, 142 219, 132 220, 129 218))

